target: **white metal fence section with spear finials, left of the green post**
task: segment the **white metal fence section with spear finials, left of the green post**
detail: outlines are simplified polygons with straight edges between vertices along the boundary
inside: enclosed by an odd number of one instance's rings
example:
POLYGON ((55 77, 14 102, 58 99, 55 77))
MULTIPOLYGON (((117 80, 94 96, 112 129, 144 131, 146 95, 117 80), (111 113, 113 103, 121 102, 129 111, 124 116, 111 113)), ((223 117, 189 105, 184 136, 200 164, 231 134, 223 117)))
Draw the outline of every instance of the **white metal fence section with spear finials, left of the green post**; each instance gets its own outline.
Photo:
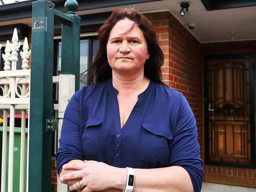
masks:
MULTIPOLYGON (((8 192, 13 192, 13 154, 14 154, 14 126, 15 109, 21 109, 21 133, 20 133, 20 192, 24 191, 24 173, 25 173, 25 135, 26 135, 26 112, 29 109, 29 84, 30 69, 28 59, 31 52, 28 50, 28 39, 25 38, 22 57, 22 70, 17 70, 18 51, 20 42, 17 30, 13 32, 12 43, 7 40, 4 59, 4 71, 0 71, 0 88, 3 95, 0 96, 0 109, 4 109, 3 131, 2 131, 2 174, 1 174, 1 192, 6 191, 6 152, 7 152, 7 114, 10 111, 9 118, 9 155, 8 155, 8 192), (11 67, 10 67, 11 66, 11 67), (18 90, 19 88, 19 90, 18 90)), ((0 46, 2 47, 2 45, 0 46)))

